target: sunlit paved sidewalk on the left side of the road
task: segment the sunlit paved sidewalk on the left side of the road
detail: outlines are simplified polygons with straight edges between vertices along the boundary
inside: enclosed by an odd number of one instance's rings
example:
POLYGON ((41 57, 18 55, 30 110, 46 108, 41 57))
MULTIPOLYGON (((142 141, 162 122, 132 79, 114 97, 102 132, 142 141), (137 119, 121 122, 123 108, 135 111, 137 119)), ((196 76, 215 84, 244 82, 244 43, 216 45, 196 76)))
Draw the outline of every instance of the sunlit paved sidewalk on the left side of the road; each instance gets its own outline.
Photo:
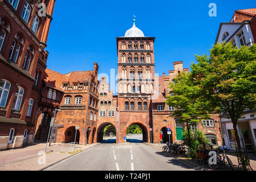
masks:
POLYGON ((0 171, 37 171, 51 166, 69 156, 87 150, 88 148, 92 148, 97 144, 98 143, 88 144, 87 146, 79 145, 76 152, 67 151, 68 146, 64 146, 64 151, 60 152, 63 144, 52 143, 50 147, 47 146, 46 164, 38 163, 39 158, 42 159, 42 155, 38 155, 39 151, 45 151, 46 143, 38 143, 14 150, 0 151, 0 171))

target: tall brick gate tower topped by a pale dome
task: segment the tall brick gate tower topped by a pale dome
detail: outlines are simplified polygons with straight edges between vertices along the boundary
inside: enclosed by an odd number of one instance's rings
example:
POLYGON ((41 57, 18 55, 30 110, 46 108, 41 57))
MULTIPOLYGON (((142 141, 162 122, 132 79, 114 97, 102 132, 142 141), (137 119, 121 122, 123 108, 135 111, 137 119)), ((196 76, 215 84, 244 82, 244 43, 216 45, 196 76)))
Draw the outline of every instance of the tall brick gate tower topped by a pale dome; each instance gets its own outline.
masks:
POLYGON ((117 131, 122 143, 132 124, 143 130, 143 142, 150 142, 152 127, 151 93, 154 90, 154 37, 144 36, 134 24, 125 36, 117 38, 118 54, 118 121, 117 131))

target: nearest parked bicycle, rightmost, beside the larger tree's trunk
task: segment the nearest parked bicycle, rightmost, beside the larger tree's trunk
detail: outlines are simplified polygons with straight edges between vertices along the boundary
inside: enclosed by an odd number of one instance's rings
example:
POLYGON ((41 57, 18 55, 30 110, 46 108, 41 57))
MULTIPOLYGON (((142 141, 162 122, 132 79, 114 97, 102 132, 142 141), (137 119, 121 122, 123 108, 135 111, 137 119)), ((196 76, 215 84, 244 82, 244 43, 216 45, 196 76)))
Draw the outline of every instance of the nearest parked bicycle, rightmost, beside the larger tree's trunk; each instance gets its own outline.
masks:
POLYGON ((226 162, 225 160, 227 160, 230 168, 232 168, 232 170, 234 170, 234 165, 232 163, 232 161, 229 159, 228 155, 226 154, 226 151, 228 151, 229 148, 227 147, 223 147, 222 148, 218 148, 217 150, 213 150, 216 152, 216 163, 214 164, 212 159, 211 158, 208 158, 207 160, 207 163, 208 163, 208 166, 211 168, 211 169, 219 169, 221 168, 222 166, 225 166, 226 162))

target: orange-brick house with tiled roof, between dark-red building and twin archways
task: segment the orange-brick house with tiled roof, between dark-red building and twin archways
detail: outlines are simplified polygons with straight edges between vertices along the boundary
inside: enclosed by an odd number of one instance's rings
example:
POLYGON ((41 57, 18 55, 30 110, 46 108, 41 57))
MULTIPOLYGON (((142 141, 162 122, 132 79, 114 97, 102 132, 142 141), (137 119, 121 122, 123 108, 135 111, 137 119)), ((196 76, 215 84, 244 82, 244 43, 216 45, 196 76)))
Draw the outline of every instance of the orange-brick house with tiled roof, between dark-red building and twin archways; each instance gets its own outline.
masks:
MULTIPOLYGON (((98 64, 92 71, 75 71, 65 75, 47 69, 48 82, 53 89, 63 92, 60 109, 55 118, 56 142, 80 144, 96 142, 96 121, 98 116, 99 92, 97 80, 98 64), (79 130, 75 127, 79 126, 79 130), (75 139, 76 134, 76 139, 75 139)), ((38 123, 40 118, 38 119, 38 123)))

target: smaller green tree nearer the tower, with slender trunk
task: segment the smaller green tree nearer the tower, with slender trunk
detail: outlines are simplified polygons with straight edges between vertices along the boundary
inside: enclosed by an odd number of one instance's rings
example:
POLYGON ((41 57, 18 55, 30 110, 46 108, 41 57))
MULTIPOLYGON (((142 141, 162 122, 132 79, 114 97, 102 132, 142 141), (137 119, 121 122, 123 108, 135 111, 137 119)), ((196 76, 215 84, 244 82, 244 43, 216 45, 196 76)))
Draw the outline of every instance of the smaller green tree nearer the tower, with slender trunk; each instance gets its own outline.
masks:
MULTIPOLYGON (((214 109, 208 107, 209 101, 201 99, 202 90, 195 85, 191 73, 181 72, 174 80, 170 82, 170 96, 166 97, 166 104, 175 107, 171 117, 180 118, 180 122, 187 123, 189 129, 201 122, 202 118, 210 118, 209 113, 214 109)), ((188 146, 192 147, 190 135, 188 130, 188 146)))

